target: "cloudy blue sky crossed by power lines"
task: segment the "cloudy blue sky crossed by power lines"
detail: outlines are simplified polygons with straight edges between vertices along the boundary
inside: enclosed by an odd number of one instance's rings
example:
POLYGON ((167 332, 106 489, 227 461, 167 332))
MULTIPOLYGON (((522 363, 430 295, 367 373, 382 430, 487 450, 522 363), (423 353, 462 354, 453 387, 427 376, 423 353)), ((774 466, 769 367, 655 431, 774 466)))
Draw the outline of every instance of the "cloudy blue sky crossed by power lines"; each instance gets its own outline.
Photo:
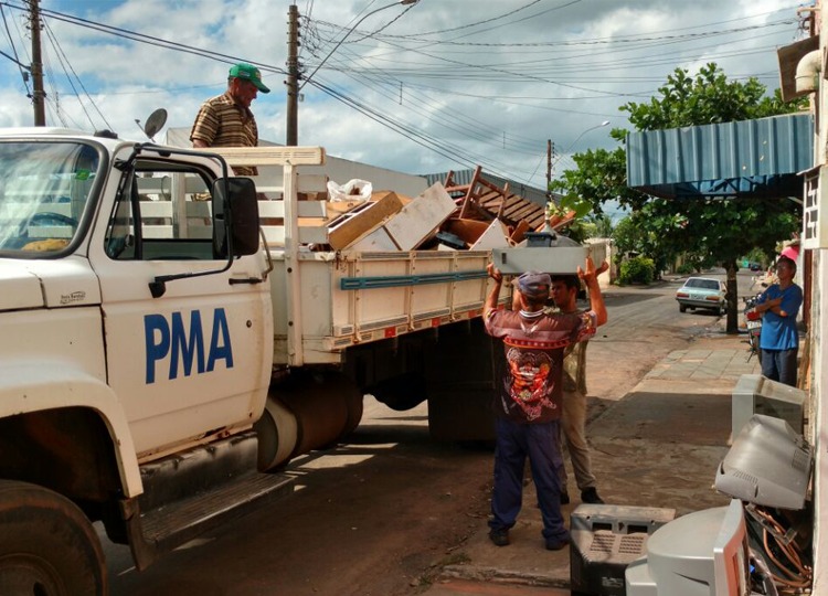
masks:
MULTIPOLYGON (((290 3, 41 0, 46 121, 142 139, 136 119, 163 107, 168 127, 189 127, 244 60, 272 88, 253 104, 259 136, 284 142, 290 3)), ((776 49, 803 36, 797 8, 813 1, 295 3, 300 63, 312 74, 299 145, 410 173, 480 164, 544 187, 548 140, 555 173, 572 152, 613 147, 609 129, 627 127, 618 107, 648 100, 676 67, 716 62, 731 78, 775 88, 776 49)), ((0 126, 30 126, 31 82, 12 60, 31 62, 26 8, 0 4, 0 126)))

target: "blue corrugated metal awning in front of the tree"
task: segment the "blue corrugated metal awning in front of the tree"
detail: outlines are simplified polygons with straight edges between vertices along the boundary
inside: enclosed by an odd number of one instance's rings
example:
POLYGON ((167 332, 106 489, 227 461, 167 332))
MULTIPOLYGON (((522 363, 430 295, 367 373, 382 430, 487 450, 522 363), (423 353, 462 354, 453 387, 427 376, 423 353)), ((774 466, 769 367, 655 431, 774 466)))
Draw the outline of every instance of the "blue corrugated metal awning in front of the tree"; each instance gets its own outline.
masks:
POLYGON ((813 143, 810 114, 633 132, 627 184, 667 199, 798 196, 813 143))

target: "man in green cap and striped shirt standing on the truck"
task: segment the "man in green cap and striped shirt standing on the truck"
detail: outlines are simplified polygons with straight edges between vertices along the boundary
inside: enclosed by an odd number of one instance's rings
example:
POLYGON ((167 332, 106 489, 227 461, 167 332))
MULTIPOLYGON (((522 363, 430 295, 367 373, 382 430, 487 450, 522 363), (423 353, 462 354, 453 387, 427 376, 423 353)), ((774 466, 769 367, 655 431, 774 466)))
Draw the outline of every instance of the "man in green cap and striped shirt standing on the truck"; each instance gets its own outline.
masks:
MULTIPOLYGON (((270 93, 262 73, 252 64, 234 64, 227 75, 227 91, 201 105, 190 131, 195 148, 256 147, 258 129, 251 103, 258 92, 270 93)), ((233 168, 236 175, 256 175, 255 168, 233 168)))

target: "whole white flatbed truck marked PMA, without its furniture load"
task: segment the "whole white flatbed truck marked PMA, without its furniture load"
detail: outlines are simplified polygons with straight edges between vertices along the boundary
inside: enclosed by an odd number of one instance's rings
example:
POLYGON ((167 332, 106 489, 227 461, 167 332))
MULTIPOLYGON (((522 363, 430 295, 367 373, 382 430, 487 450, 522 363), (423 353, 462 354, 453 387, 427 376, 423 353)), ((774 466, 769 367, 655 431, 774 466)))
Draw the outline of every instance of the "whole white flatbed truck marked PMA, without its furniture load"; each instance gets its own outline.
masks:
POLYGON ((291 490, 367 393, 489 438, 490 252, 311 249, 323 150, 223 152, 0 130, 0 594, 106 594, 93 522, 145 568, 291 490))

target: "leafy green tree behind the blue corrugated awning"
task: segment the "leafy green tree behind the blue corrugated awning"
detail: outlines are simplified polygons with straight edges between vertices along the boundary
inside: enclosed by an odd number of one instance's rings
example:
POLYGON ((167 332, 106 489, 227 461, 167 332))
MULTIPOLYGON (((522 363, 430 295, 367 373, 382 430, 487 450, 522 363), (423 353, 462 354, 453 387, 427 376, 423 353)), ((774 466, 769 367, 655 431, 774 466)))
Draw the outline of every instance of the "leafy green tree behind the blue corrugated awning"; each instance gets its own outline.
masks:
MULTIPOLYGON (((622 110, 637 130, 657 130, 686 126, 728 123, 787 114, 799 109, 802 102, 785 104, 778 91, 766 95, 755 78, 729 81, 715 64, 708 64, 698 75, 676 68, 658 95, 647 103, 628 103, 622 110)), ((613 138, 623 143, 625 131, 615 129, 613 138)), ((598 150, 576 155, 577 170, 564 172, 553 184, 562 193, 577 194, 601 205, 614 199, 628 206, 631 223, 651 240, 648 256, 660 258, 688 252, 700 263, 714 258, 728 270, 728 332, 737 331, 736 259, 753 248, 768 254, 777 240, 798 228, 797 205, 787 199, 661 200, 626 187, 626 152, 598 150), (636 216, 638 215, 638 216, 636 216)))

